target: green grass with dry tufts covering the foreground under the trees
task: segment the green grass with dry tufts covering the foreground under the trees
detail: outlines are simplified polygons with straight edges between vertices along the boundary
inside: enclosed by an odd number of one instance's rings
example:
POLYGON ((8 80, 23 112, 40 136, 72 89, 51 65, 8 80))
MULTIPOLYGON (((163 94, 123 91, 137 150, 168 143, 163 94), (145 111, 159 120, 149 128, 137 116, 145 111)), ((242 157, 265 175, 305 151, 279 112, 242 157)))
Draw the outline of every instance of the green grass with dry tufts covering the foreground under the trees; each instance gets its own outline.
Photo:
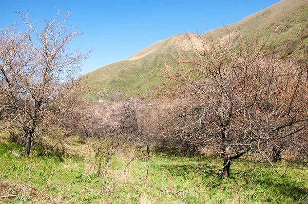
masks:
POLYGON ((281 177, 262 162, 237 161, 230 178, 220 179, 217 171, 200 171, 221 167, 220 158, 155 154, 146 161, 136 158, 142 150, 127 147, 114 150, 105 176, 98 176, 86 173, 89 164, 80 151, 34 151, 32 158, 7 152, 18 147, 0 144, 0 179, 26 183, 68 203, 292 203, 308 192, 308 172, 289 169, 281 177))

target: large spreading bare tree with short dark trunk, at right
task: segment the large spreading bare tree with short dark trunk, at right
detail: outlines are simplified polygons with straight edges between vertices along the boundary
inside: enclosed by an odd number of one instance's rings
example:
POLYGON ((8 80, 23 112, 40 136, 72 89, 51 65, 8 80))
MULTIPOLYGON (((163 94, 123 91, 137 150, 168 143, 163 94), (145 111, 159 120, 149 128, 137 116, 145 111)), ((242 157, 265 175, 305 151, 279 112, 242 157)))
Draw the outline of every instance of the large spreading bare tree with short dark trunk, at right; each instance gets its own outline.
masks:
MULTIPOLYGON (((307 158, 307 67, 281 61, 268 42, 234 39, 190 40, 194 53, 179 52, 176 67, 163 77, 186 111, 169 132, 188 144, 213 144, 224 158, 224 177, 232 161, 251 152, 271 162, 282 153, 307 158), (230 48, 231 42, 236 46, 230 48)), ((305 62, 306 59, 304 59, 305 62)), ((171 126, 170 126, 171 127, 171 126)))

